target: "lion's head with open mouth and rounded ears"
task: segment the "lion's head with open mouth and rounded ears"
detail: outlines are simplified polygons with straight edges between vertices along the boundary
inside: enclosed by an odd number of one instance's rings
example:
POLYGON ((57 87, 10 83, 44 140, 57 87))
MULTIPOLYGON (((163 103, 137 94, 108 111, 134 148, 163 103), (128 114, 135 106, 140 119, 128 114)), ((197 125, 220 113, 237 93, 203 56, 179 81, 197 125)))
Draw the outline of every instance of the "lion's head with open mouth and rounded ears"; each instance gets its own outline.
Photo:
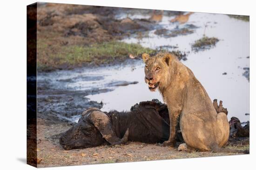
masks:
POLYGON ((145 82, 150 91, 167 87, 170 81, 170 62, 174 58, 168 53, 159 53, 153 57, 142 54, 145 63, 145 82))

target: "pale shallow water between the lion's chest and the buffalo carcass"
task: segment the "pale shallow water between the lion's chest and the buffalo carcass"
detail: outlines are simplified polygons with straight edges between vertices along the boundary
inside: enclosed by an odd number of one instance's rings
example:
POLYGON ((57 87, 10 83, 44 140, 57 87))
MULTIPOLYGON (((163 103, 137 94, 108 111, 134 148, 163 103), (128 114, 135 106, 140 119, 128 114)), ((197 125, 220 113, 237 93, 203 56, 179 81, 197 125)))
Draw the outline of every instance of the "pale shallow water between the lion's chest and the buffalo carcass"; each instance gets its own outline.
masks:
POLYGON ((131 106, 140 101, 159 99, 162 97, 159 93, 150 93, 148 85, 144 82, 144 65, 141 60, 134 61, 132 64, 120 67, 110 67, 110 70, 102 69, 102 73, 108 74, 110 79, 115 81, 138 81, 137 84, 115 88, 114 91, 88 95, 93 101, 103 102, 102 111, 128 111, 131 106), (108 72, 109 71, 109 72, 108 72))

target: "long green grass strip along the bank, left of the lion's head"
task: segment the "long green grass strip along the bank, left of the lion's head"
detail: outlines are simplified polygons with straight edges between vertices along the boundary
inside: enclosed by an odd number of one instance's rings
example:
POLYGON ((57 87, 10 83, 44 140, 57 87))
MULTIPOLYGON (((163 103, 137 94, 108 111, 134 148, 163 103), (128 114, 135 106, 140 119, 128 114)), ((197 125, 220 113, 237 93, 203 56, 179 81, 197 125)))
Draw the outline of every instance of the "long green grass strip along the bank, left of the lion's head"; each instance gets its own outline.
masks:
POLYGON ((38 41, 38 70, 68 69, 86 64, 111 64, 122 62, 132 54, 140 57, 141 54, 154 54, 156 50, 144 48, 140 44, 127 44, 112 41, 101 44, 58 45, 47 44, 47 40, 38 41))

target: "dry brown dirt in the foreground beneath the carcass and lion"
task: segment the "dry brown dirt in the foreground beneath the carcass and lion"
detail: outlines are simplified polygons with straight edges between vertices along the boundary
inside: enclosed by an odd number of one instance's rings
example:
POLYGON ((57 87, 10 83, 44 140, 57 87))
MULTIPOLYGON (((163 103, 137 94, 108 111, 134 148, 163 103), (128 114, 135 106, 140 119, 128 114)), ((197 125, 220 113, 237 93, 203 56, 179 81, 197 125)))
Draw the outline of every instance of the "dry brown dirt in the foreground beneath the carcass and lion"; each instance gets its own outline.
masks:
MULTIPOLYGON (((70 127, 67 123, 47 125, 44 120, 38 119, 37 157, 40 160, 38 167, 237 155, 237 153, 177 151, 177 148, 141 142, 128 142, 125 145, 114 146, 101 145, 94 148, 66 151, 59 144, 59 137, 70 127)), ((248 149, 249 138, 229 139, 226 147, 248 149)))

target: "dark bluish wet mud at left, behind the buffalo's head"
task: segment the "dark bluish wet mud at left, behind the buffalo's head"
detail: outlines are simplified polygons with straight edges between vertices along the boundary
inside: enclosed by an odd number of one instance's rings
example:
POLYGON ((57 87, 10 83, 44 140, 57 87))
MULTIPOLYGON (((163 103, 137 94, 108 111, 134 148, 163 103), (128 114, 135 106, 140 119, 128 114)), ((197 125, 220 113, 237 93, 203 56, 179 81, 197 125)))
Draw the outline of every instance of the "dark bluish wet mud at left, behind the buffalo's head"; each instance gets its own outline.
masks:
POLYGON ((41 79, 37 82, 37 113, 38 118, 44 119, 48 124, 60 122, 73 123, 72 118, 87 109, 88 107, 101 108, 102 103, 90 101, 85 96, 88 94, 99 94, 109 92, 108 88, 90 88, 76 90, 66 88, 67 84, 83 81, 101 80, 101 76, 80 76, 68 79, 41 79))

